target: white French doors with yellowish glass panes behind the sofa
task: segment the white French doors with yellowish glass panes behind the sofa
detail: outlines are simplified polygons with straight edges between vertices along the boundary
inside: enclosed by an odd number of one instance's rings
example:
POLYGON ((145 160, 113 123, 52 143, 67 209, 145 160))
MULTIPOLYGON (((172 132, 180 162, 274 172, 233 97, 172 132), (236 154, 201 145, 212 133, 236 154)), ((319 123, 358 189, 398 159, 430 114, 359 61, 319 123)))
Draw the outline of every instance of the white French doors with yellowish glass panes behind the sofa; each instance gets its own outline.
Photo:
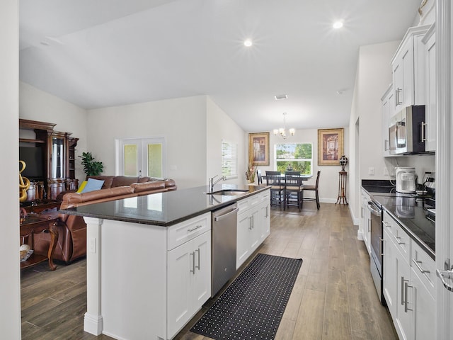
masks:
POLYGON ((165 177, 164 137, 116 140, 115 173, 119 176, 165 177))

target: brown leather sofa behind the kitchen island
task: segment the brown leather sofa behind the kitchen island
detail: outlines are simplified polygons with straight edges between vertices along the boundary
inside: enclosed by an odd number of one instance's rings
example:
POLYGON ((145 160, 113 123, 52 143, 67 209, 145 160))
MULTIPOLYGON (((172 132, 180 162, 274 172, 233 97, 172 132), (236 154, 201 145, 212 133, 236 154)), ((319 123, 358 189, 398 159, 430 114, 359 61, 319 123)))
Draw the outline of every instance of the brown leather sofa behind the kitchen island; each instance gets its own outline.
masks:
MULTIPOLYGON (((88 178, 103 180, 101 190, 88 193, 63 193, 60 209, 74 208, 81 205, 119 200, 151 193, 176 190, 173 179, 153 179, 135 176, 90 176, 88 178)), ((58 213, 58 212, 52 212, 58 213)), ((54 251, 54 259, 70 263, 86 256, 86 223, 81 216, 59 213, 59 235, 54 251)), ((35 250, 44 252, 49 248, 50 235, 40 234, 35 239, 35 250)))

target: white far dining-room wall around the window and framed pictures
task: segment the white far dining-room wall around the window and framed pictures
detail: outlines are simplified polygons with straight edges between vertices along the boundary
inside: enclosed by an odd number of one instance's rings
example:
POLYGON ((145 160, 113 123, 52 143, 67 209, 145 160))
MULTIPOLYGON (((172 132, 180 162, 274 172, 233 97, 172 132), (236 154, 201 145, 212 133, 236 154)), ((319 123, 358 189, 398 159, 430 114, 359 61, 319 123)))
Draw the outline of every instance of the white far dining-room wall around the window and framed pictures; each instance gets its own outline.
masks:
MULTIPOLYGON (((340 126, 335 128, 342 128, 340 126)), ((248 134, 246 134, 248 136, 248 134)), ((248 138, 248 137, 247 137, 248 138)), ((349 152, 349 128, 344 128, 344 154, 346 157, 350 158, 349 152)), ((261 169, 263 174, 266 170, 275 171, 277 168, 275 166, 275 144, 285 143, 312 143, 313 149, 313 166, 311 171, 313 172, 313 179, 307 181, 309 184, 314 184, 316 180, 316 173, 318 170, 321 170, 321 176, 319 178, 319 200, 324 203, 336 203, 338 198, 338 171, 341 170, 341 166, 338 163, 338 166, 319 166, 318 165, 318 130, 317 129, 307 129, 307 130, 296 130, 296 133, 292 137, 287 137, 286 140, 283 140, 282 137, 275 136, 272 131, 270 131, 269 138, 269 166, 258 166, 258 169, 261 169)), ((247 146, 248 147, 248 146, 247 146)), ((346 171, 349 171, 349 166, 346 167, 346 171)), ((350 195, 350 191, 347 190, 346 196, 350 195)), ((314 193, 304 193, 306 197, 314 197, 314 193)))

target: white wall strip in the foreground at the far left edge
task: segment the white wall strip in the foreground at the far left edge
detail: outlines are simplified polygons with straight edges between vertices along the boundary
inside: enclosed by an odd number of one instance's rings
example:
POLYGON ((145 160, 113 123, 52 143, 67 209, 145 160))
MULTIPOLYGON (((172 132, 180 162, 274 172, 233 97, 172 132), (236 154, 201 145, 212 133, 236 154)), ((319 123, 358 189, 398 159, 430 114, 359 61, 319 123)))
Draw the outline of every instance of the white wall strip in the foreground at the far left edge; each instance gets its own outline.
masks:
POLYGON ((21 339, 21 280, 18 200, 18 1, 0 3, 0 145, 1 246, 0 334, 1 339, 21 339), (6 142, 7 141, 7 142, 6 142), (16 212, 16 213, 10 213, 16 212))

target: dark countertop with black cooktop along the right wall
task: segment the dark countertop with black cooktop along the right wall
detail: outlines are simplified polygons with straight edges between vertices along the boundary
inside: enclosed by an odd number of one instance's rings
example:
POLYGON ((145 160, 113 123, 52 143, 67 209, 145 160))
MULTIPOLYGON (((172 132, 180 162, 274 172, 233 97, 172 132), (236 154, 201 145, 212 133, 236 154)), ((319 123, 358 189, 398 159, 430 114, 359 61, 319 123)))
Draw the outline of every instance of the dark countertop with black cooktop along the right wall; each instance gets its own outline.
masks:
POLYGON ((389 212, 396 222, 408 233, 427 254, 435 259, 435 223, 426 218, 427 209, 435 201, 430 197, 416 196, 410 193, 396 193, 394 187, 363 185, 372 200, 389 212))

